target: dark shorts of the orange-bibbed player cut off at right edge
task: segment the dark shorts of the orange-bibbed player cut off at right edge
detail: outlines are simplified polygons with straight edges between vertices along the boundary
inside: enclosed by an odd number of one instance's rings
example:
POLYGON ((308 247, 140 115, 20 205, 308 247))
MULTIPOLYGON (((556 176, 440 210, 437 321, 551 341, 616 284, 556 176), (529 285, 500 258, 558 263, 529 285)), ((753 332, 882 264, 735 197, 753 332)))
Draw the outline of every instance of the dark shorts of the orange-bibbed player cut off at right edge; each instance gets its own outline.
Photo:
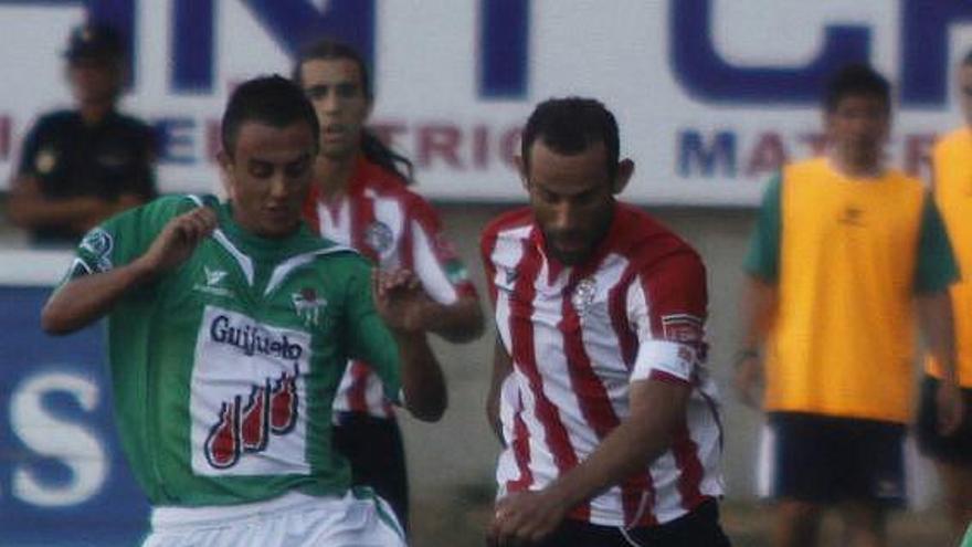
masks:
POLYGON ((918 446, 921 452, 934 460, 960 464, 972 464, 972 389, 962 389, 965 414, 959 431, 942 436, 938 432, 938 406, 934 395, 939 380, 926 376, 921 382, 921 402, 918 408, 918 446))

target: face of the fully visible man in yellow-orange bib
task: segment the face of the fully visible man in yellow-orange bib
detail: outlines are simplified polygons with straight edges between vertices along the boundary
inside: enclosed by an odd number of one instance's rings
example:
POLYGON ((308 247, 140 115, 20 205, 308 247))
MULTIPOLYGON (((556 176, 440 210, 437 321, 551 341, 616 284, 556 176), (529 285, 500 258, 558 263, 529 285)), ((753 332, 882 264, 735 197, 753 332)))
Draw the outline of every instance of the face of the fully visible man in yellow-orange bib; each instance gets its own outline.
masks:
POLYGON ((846 95, 826 115, 827 136, 844 161, 877 167, 891 126, 888 104, 876 95, 846 95))

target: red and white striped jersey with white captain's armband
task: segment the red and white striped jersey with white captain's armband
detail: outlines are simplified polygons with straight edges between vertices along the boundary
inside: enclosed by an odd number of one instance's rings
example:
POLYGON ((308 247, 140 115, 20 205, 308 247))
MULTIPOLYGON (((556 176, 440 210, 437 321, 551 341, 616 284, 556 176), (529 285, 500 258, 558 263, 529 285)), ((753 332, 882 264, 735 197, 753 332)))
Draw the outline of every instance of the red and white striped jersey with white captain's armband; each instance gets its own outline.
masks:
POLYGON ((722 439, 705 367, 698 254, 625 204, 584 264, 548 259, 528 208, 494 220, 482 253, 496 327, 513 358, 501 390, 499 496, 541 490, 587 459, 630 415, 630 382, 646 378, 693 387, 672 446, 569 517, 653 526, 720 496, 722 439))

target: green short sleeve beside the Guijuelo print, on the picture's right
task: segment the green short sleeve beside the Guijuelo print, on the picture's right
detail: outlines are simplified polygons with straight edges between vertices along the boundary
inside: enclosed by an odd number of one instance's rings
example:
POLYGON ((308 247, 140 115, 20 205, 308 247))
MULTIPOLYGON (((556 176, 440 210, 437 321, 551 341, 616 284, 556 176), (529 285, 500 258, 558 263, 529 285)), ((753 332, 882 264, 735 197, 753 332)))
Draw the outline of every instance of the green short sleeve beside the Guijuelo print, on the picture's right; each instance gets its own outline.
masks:
POLYGON ((348 277, 347 320, 349 357, 367 362, 381 379, 385 397, 401 403, 401 361, 398 344, 371 299, 371 269, 360 257, 348 277))

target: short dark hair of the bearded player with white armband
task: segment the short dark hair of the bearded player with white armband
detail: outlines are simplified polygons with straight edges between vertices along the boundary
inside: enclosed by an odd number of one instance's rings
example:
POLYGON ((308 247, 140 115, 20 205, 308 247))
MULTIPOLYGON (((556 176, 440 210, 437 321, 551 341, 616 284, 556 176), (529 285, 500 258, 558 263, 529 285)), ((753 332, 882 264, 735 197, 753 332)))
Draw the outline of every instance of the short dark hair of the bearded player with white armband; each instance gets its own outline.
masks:
POLYGON ((617 170, 621 154, 617 122, 600 101, 564 97, 550 98, 537 105, 527 119, 520 139, 520 154, 527 169, 530 166, 530 147, 537 139, 551 150, 568 156, 603 143, 608 150, 608 172, 613 177, 617 170))

